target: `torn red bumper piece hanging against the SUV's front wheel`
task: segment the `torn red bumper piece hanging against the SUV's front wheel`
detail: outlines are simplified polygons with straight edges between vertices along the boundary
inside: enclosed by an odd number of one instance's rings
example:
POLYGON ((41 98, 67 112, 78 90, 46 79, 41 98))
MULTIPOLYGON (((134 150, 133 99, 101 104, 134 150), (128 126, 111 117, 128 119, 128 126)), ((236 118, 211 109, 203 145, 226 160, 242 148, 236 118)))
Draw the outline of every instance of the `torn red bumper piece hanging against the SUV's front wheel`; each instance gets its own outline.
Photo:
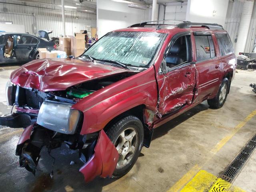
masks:
POLYGON ((96 176, 112 176, 118 161, 118 152, 104 130, 100 131, 94 155, 80 168, 84 180, 90 182, 96 176))

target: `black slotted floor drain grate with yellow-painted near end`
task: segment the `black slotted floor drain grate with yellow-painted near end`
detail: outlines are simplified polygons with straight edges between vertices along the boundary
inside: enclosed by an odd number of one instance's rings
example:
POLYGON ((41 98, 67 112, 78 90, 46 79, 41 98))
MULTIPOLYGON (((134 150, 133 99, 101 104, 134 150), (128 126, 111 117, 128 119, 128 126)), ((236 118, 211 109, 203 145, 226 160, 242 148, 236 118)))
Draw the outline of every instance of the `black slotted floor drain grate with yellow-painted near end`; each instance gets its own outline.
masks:
POLYGON ((209 192, 223 192, 224 190, 230 188, 230 183, 232 180, 234 180, 255 148, 256 134, 250 141, 247 142, 247 144, 242 148, 236 158, 228 165, 220 177, 215 180, 215 182, 210 187, 209 192))

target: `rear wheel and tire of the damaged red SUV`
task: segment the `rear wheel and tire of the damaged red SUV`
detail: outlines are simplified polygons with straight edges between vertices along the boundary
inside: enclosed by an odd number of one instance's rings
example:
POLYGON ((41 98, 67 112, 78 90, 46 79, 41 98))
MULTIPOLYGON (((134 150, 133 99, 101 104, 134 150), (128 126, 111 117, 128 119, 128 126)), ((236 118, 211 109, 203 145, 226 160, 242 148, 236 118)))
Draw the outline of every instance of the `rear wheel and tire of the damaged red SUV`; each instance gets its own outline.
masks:
POLYGON ((218 94, 213 99, 208 99, 208 105, 210 108, 218 109, 221 108, 226 102, 229 90, 229 80, 228 78, 224 78, 220 84, 220 88, 218 90, 218 94))

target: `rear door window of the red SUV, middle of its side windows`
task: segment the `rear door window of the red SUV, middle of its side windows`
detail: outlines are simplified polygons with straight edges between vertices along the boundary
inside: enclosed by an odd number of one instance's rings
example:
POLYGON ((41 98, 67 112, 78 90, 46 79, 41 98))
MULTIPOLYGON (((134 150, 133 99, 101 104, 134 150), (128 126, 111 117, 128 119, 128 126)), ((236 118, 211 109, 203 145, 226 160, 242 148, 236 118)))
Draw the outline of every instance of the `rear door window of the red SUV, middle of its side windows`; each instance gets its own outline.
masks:
POLYGON ((195 35, 196 61, 215 57, 214 44, 210 35, 195 35))

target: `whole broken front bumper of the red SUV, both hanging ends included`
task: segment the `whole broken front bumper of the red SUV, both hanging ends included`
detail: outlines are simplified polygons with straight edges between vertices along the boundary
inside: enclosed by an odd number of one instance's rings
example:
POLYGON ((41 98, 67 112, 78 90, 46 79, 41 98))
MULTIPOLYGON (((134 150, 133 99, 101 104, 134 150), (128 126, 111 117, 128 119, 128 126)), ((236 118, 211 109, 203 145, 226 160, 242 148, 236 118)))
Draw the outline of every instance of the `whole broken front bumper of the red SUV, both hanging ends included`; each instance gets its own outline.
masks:
MULTIPOLYGON (((16 155, 20 157, 19 165, 21 167, 35 174, 42 147, 58 148, 66 140, 65 137, 68 136, 52 138, 51 134, 54 134, 54 132, 37 124, 25 128, 16 148, 16 155)), ((79 171, 84 174, 86 182, 90 182, 96 176, 103 178, 112 176, 118 161, 118 152, 104 130, 101 130, 97 136, 86 147, 84 147, 84 144, 79 149, 80 159, 85 163, 79 171)), ((82 138, 84 143, 86 143, 85 138, 86 136, 82 138)), ((66 143, 70 148, 74 147, 70 142, 66 143)), ((78 142, 79 145, 81 146, 81 143, 78 142)))

